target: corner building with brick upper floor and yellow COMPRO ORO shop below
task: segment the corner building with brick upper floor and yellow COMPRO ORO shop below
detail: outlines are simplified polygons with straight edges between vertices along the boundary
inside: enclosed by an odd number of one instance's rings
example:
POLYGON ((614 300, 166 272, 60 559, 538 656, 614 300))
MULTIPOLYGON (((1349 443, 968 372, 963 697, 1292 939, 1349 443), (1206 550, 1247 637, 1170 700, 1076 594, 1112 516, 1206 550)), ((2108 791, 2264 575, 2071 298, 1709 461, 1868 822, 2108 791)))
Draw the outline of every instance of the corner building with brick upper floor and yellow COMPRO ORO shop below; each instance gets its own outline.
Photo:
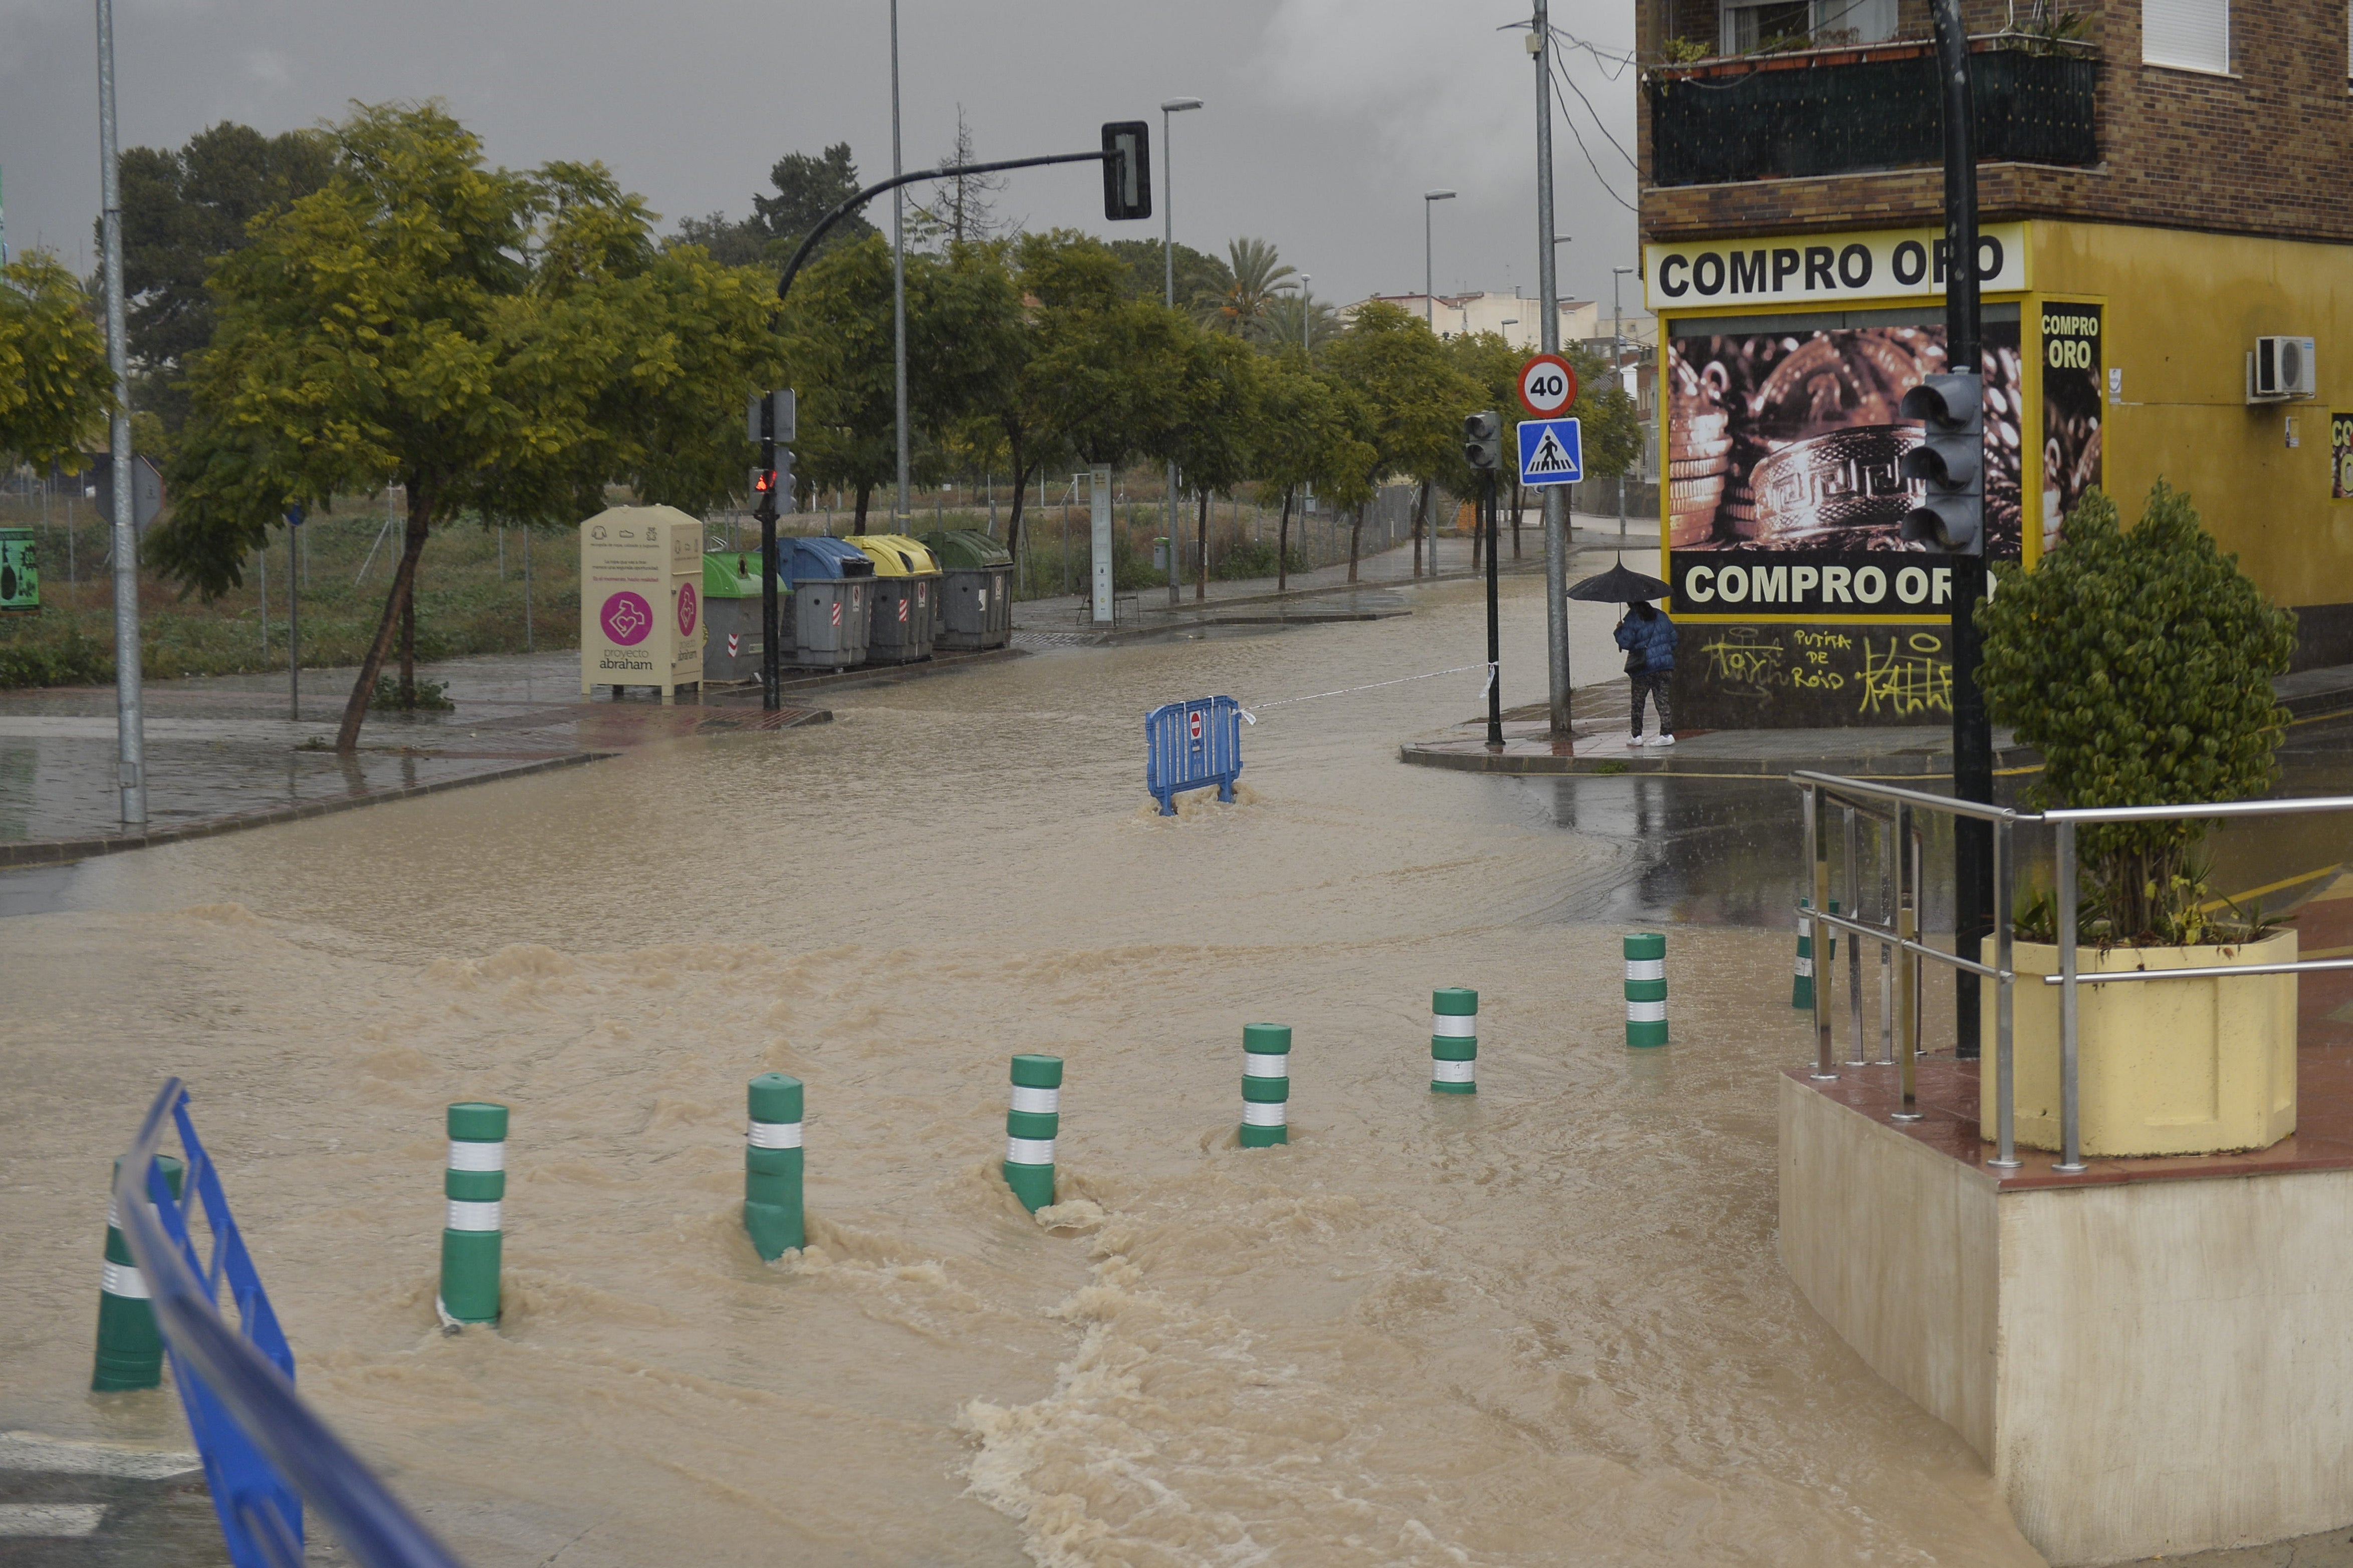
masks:
MULTIPOLYGON (((2033 564, 2165 477, 2353 661, 2348 0, 1962 0, 1988 524, 2033 564), (2306 343, 2308 341, 2308 343, 2306 343)), ((1642 0, 1645 294, 1692 724, 1944 717, 1948 604, 1894 538, 1944 367, 1925 0, 1642 0)))

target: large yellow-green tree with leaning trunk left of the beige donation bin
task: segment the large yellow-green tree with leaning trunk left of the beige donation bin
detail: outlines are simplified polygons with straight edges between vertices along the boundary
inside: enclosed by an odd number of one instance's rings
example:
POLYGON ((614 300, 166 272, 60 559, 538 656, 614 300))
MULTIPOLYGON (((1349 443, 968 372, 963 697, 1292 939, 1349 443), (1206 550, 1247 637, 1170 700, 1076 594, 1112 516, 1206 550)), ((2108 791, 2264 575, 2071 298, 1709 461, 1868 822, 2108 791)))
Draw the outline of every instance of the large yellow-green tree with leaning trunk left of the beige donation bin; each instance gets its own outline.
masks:
POLYGON ((675 433, 713 411, 739 433, 741 397, 776 355, 755 280, 661 259, 645 205, 595 165, 492 169, 435 103, 355 108, 329 141, 329 181, 214 270, 219 322, 188 367, 153 559, 219 595, 285 505, 402 487, 400 559, 336 736, 348 752, 395 632, 414 703, 433 524, 579 517, 607 482, 694 496, 725 444, 699 463, 675 433), (708 383, 687 386, 689 371, 708 383))

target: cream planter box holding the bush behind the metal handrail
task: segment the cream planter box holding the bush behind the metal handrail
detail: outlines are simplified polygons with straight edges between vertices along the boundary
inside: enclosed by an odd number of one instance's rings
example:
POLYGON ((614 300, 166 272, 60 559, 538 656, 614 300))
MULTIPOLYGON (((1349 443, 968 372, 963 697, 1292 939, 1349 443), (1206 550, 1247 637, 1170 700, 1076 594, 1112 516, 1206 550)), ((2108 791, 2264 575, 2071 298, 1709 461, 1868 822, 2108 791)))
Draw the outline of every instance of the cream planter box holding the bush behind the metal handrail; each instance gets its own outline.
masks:
MULTIPOLYGON (((1984 943, 1993 961, 1993 943, 1984 943)), ((2297 933, 2235 947, 2078 947, 2075 973, 2292 964, 2297 933)), ((2014 943, 2017 1140, 2059 1143, 2059 947, 2014 943)), ((1991 1143, 1993 985, 1986 985, 1979 1124, 1991 1143)), ((2087 1157, 2264 1150, 2297 1131, 2297 976, 2129 980, 2078 992, 2078 1114, 2087 1157)))

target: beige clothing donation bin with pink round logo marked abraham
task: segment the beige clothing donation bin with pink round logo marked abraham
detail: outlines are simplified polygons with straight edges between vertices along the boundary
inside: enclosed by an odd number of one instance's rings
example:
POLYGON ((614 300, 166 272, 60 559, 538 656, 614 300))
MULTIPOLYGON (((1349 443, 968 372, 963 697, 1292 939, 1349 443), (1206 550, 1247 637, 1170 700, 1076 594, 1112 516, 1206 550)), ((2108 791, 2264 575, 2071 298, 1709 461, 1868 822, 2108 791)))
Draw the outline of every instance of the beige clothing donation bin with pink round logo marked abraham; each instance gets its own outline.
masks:
POLYGON ((671 505, 616 505, 581 524, 581 696, 704 679, 704 524, 671 505))

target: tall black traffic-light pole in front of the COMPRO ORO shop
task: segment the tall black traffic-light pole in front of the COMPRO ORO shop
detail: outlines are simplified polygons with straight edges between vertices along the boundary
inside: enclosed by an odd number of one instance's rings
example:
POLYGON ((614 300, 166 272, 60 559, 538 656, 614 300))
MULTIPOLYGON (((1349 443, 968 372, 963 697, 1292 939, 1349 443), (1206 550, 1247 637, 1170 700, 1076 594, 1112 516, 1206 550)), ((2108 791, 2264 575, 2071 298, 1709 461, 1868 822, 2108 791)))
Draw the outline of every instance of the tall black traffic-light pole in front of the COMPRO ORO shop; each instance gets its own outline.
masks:
MULTIPOLYGON (((1977 306, 1977 125, 1969 92, 1969 33, 1960 24, 1960 0, 1937 0, 1937 73, 1944 78, 1944 343, 1946 371, 1977 376, 1981 320, 1977 306)), ((1984 522, 1977 550, 1953 562, 1953 795, 1993 804, 1993 731, 1986 696, 1977 689, 1981 635, 1977 599, 1986 592, 1984 522)), ((1993 825, 1953 818, 1953 947, 1977 954, 1977 940, 1993 929, 1993 825)), ((1979 1046, 1979 978, 1953 971, 1953 1056, 1974 1058, 1979 1046)))

